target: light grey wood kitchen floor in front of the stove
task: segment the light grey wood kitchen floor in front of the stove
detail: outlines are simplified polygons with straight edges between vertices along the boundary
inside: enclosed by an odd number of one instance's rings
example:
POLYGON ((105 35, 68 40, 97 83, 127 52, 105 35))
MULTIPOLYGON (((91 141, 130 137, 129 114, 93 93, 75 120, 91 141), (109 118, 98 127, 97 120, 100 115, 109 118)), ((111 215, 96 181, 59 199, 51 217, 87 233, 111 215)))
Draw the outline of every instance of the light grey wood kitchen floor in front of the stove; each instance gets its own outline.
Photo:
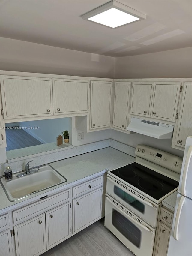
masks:
POLYGON ((42 256, 134 256, 105 226, 104 218, 42 256))

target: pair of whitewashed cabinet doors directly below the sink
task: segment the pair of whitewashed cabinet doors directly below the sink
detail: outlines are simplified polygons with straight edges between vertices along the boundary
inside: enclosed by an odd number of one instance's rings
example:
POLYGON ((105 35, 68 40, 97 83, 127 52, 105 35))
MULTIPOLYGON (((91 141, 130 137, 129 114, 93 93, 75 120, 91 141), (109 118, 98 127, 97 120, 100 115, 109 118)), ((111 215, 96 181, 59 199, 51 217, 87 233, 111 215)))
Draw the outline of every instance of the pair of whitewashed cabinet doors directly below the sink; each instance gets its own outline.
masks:
POLYGON ((70 236, 70 202, 16 225, 17 256, 38 256, 70 236))

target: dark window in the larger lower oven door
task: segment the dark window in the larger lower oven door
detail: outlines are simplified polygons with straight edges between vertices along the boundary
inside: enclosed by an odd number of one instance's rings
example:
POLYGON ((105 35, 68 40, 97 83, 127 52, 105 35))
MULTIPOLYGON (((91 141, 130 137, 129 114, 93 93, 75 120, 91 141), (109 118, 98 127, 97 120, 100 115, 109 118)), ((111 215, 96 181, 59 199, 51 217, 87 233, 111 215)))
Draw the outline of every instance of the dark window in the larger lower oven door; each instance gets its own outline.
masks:
POLYGON ((140 248, 141 230, 115 209, 112 212, 112 224, 131 243, 140 248))

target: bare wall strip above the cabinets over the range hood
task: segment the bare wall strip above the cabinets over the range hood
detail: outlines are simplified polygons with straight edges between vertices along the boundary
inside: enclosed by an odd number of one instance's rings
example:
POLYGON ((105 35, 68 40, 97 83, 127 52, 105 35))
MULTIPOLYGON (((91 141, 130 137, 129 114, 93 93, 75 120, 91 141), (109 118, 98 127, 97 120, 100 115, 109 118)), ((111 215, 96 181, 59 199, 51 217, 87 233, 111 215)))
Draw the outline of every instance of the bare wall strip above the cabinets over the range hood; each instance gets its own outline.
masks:
POLYGON ((115 78, 192 77, 192 47, 121 57, 115 60, 115 78))

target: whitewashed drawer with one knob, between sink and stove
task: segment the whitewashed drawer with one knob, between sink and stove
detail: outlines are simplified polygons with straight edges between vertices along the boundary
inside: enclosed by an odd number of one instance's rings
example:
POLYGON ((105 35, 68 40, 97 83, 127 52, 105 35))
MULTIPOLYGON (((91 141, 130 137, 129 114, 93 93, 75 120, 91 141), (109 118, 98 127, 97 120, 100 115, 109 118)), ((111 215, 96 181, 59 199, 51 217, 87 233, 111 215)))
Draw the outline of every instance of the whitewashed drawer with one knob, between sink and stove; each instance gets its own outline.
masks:
POLYGON ((80 185, 73 187, 73 197, 80 196, 86 192, 92 191, 103 185, 103 176, 86 181, 80 185))

